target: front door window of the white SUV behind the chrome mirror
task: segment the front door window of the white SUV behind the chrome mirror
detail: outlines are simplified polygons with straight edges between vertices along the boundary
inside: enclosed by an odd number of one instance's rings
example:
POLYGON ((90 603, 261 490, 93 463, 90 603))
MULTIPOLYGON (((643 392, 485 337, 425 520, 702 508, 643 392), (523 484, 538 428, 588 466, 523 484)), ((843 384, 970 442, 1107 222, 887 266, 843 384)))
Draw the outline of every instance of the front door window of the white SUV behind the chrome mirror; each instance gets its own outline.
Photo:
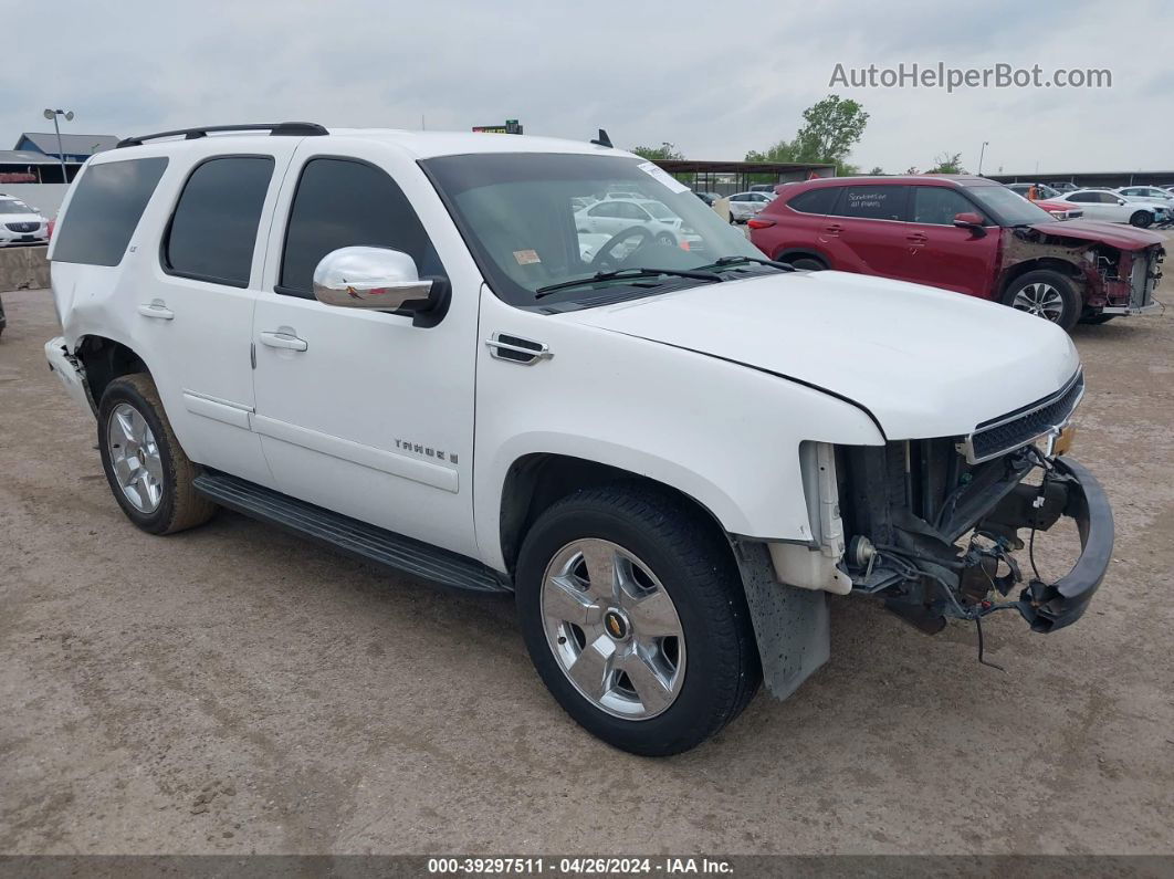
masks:
POLYGON ((390 248, 416 261, 420 277, 444 275, 403 190, 375 165, 311 158, 294 195, 278 293, 313 298, 313 270, 339 248, 390 248))

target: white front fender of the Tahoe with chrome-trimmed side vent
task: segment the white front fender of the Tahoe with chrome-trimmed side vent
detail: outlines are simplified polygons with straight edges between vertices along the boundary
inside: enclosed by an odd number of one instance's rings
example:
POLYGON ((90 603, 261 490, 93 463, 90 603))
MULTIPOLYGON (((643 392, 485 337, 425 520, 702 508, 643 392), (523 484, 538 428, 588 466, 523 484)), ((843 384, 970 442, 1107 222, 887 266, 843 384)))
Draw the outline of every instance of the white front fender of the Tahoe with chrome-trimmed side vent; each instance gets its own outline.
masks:
POLYGON ((529 454, 633 472, 694 499, 730 534, 807 543, 799 444, 884 442, 863 410, 811 387, 487 298, 483 337, 505 332, 553 354, 532 366, 484 346, 478 356, 474 522, 484 561, 500 569, 502 489, 529 454))

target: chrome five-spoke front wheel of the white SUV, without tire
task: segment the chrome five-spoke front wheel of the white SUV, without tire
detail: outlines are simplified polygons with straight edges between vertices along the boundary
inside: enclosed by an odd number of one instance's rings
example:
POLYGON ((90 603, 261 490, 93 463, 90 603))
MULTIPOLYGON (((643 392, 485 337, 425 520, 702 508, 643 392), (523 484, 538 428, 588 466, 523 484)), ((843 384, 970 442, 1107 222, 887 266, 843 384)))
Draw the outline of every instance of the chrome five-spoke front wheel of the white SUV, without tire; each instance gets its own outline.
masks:
POLYGON ((647 564, 606 540, 562 547, 542 576, 546 640, 567 679, 593 705, 643 721, 684 682, 684 631, 647 564))

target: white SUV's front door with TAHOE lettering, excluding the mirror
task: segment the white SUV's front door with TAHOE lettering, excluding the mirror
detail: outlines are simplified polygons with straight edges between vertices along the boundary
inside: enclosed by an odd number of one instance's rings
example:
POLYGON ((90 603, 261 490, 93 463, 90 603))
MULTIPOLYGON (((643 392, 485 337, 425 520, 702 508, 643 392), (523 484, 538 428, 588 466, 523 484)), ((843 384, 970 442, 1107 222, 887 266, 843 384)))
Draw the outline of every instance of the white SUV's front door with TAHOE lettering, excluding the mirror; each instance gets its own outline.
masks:
MULTIPOLYGON (((270 234, 252 323, 254 430, 285 494, 475 555, 475 270, 446 271, 413 205, 451 221, 409 157, 360 140, 351 157, 316 155, 312 140, 295 155, 270 234), (420 277, 451 280, 444 318, 413 325, 315 299, 318 261, 359 245, 403 251, 420 277)), ((448 263, 467 261, 456 231, 447 237, 448 263)))

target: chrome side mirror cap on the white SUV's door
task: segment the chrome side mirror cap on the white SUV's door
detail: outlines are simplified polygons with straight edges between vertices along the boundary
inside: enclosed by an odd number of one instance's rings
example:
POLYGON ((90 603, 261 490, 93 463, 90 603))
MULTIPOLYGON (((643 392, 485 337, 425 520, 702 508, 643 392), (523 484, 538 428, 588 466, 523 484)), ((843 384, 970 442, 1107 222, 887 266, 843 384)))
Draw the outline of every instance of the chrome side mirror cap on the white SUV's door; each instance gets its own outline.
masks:
POLYGON ((425 305, 431 293, 432 282, 420 280, 416 262, 399 250, 339 248, 313 270, 313 296, 326 305, 399 311, 425 305))

